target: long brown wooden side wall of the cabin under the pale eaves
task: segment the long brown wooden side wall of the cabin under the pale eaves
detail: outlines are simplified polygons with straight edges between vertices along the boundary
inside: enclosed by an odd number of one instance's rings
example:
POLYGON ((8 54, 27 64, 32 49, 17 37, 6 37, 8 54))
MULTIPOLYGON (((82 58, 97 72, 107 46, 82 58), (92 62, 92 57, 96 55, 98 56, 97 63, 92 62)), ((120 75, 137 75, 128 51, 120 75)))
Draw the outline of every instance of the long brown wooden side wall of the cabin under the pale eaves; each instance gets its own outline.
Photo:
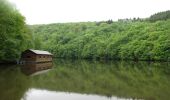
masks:
POLYGON ((36 55, 36 62, 50 62, 52 61, 51 55, 36 55))

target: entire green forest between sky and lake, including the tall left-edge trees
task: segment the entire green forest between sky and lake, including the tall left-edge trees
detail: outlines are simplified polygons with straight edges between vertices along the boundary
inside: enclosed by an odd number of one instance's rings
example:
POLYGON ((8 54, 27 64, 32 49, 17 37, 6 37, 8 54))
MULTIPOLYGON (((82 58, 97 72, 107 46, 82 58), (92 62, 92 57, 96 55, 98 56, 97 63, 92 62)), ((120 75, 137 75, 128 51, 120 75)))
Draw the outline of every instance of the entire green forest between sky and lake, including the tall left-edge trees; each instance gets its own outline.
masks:
POLYGON ((170 61, 170 11, 146 19, 26 25, 25 18, 0 0, 0 63, 22 51, 48 50, 54 57, 170 61))

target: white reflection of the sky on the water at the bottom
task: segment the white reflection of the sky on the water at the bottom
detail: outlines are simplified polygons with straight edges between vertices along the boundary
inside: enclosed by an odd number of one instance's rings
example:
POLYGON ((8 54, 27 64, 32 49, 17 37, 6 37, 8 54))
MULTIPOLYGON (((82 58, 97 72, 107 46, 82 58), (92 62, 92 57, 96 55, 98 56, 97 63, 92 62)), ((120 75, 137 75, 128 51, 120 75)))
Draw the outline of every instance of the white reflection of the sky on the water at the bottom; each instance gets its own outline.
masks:
POLYGON ((30 89, 21 100, 132 100, 118 97, 30 89))

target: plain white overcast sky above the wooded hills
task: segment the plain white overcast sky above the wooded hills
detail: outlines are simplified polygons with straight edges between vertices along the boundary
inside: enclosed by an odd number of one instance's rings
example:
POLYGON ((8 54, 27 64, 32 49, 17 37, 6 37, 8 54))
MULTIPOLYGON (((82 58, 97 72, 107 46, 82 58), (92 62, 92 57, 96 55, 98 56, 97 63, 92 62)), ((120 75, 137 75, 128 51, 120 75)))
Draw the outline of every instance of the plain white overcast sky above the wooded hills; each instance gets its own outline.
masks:
POLYGON ((27 24, 116 21, 170 10, 170 0, 9 0, 27 24))

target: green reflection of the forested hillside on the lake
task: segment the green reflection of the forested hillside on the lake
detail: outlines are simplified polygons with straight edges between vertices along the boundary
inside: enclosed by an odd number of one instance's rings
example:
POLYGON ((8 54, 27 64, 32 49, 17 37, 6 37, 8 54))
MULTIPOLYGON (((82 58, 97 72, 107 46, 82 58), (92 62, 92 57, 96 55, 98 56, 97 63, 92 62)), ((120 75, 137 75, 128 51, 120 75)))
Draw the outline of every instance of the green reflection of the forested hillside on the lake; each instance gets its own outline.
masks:
POLYGON ((34 77, 32 85, 50 91, 168 100, 169 68, 168 63, 58 60, 48 74, 34 77))

